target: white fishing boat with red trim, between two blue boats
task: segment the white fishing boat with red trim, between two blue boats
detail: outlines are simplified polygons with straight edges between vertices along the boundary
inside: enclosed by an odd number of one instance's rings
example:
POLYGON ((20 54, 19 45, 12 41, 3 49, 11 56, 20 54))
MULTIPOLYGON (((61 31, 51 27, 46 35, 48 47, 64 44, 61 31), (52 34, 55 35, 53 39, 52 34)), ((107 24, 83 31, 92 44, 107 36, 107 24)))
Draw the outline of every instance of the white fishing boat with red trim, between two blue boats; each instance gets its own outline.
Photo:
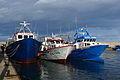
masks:
POLYGON ((40 58, 44 60, 65 62, 75 47, 64 43, 61 37, 52 33, 52 37, 44 37, 40 58))

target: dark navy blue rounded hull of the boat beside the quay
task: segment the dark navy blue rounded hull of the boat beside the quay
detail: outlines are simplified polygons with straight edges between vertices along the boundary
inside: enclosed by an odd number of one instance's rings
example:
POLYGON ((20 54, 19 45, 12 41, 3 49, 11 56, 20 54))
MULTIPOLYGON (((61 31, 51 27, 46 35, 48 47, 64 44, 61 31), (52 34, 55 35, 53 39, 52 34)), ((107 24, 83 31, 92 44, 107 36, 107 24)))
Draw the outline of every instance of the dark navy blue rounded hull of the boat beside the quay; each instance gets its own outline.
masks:
POLYGON ((10 44, 6 48, 7 55, 18 61, 29 62, 35 60, 41 43, 32 38, 26 38, 10 44))

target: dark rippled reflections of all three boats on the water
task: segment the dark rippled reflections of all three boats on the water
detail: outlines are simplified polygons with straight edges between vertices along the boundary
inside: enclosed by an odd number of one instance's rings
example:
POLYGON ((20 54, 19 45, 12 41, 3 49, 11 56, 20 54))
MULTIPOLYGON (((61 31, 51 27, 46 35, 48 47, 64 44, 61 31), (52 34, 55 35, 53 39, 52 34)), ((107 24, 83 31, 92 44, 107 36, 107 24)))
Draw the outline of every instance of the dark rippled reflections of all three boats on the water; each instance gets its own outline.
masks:
POLYGON ((103 73, 103 64, 86 61, 61 64, 43 60, 14 66, 21 80, 102 80, 100 73, 103 73))

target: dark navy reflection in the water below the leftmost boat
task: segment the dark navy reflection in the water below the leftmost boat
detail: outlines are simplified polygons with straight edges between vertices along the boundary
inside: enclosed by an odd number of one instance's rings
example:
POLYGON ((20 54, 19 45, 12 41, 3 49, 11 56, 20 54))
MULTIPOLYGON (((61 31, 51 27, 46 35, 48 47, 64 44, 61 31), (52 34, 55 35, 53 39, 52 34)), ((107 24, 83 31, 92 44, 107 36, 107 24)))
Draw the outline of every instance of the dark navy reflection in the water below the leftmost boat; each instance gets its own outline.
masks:
POLYGON ((14 63, 14 67, 21 80, 40 80, 41 67, 40 62, 32 64, 14 63))

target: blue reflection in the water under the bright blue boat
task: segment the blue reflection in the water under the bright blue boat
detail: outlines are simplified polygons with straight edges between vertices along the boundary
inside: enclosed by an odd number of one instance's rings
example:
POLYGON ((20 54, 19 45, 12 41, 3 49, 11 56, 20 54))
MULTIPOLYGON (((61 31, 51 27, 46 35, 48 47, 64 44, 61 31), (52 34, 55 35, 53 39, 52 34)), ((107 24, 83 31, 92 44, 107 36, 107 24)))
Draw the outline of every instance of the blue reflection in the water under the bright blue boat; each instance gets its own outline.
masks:
POLYGON ((104 63, 92 62, 92 61, 69 61, 67 62, 69 71, 73 71, 73 69, 84 70, 90 73, 103 73, 103 65, 104 63))

